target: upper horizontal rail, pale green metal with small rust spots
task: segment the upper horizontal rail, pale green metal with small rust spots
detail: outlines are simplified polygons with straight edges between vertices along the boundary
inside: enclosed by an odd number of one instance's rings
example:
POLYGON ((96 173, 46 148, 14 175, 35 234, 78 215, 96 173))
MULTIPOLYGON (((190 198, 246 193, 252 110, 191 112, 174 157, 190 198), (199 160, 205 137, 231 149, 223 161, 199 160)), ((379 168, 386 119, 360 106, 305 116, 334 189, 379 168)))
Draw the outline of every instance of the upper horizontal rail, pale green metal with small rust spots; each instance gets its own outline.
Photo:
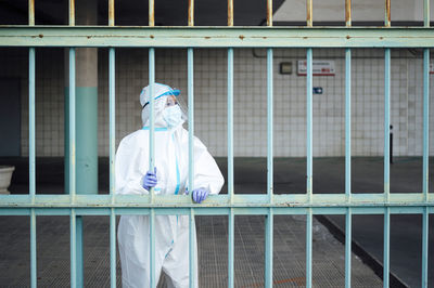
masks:
POLYGON ((0 26, 0 47, 431 48, 431 27, 0 26))

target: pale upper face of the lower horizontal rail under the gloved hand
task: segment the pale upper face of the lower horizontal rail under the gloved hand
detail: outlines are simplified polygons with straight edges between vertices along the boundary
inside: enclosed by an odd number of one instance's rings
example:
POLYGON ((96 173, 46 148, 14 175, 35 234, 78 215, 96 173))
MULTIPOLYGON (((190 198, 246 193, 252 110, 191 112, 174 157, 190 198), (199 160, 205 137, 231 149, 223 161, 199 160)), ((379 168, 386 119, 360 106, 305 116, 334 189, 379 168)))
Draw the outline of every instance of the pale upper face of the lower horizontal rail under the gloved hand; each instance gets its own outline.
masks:
MULTIPOLYGON (((434 202, 425 201, 423 193, 396 193, 390 195, 390 200, 384 199, 384 194, 352 194, 347 201, 345 194, 279 194, 273 195, 269 201, 267 194, 234 194, 210 195, 205 202, 193 204, 191 197, 186 195, 154 195, 153 202, 149 195, 1 195, 0 211, 5 208, 260 208, 260 207, 434 207, 434 202), (34 200, 34 201, 33 201, 34 200)), ((432 197, 432 193, 430 193, 432 197)))

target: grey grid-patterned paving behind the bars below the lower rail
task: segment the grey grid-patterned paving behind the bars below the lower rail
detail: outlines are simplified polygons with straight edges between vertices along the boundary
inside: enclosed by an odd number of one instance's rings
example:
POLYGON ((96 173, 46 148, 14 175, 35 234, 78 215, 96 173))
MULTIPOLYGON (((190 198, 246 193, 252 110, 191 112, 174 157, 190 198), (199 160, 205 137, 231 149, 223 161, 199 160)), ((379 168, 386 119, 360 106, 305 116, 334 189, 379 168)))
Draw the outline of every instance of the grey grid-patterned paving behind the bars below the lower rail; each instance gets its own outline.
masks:
MULTIPOLYGON (((38 286, 69 286, 69 219, 38 217, 38 286)), ((0 286, 29 286, 28 217, 0 217, 0 286)), ((226 287, 227 218, 197 217, 201 287, 226 287)), ((305 286, 305 217, 275 218, 275 287, 305 286)), ((235 217, 235 287, 264 287, 264 217, 235 217)), ((343 287, 344 247, 314 221, 312 282, 315 287, 343 287)), ((108 218, 84 218, 85 287, 110 286, 108 218)), ((117 275, 120 275, 117 258, 117 275)), ((382 287, 373 271, 353 254, 354 287, 382 287)), ((165 287, 164 278, 159 287, 165 287)), ((120 277, 117 277, 120 287, 120 277)))

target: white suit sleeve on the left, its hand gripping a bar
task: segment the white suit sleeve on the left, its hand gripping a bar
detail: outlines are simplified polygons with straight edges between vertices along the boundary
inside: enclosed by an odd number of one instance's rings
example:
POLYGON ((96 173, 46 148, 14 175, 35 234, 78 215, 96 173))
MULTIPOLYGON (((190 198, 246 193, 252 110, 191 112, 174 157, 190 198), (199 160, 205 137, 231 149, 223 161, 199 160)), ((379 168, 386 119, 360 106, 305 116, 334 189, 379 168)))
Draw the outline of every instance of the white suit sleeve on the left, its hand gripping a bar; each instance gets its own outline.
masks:
POLYGON ((124 139, 116 153, 115 163, 115 191, 116 194, 148 194, 142 187, 142 179, 146 173, 148 155, 140 146, 138 141, 124 139))

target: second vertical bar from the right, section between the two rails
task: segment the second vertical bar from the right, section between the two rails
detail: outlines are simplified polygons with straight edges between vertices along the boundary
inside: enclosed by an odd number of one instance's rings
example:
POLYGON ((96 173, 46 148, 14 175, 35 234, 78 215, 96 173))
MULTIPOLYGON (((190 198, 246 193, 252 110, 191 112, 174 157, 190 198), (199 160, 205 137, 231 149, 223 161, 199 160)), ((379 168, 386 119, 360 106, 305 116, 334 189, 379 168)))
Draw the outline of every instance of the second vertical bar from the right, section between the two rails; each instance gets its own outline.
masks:
POLYGON ((390 173, 390 150, 391 150, 391 49, 384 51, 384 196, 390 199, 391 173, 390 173))

